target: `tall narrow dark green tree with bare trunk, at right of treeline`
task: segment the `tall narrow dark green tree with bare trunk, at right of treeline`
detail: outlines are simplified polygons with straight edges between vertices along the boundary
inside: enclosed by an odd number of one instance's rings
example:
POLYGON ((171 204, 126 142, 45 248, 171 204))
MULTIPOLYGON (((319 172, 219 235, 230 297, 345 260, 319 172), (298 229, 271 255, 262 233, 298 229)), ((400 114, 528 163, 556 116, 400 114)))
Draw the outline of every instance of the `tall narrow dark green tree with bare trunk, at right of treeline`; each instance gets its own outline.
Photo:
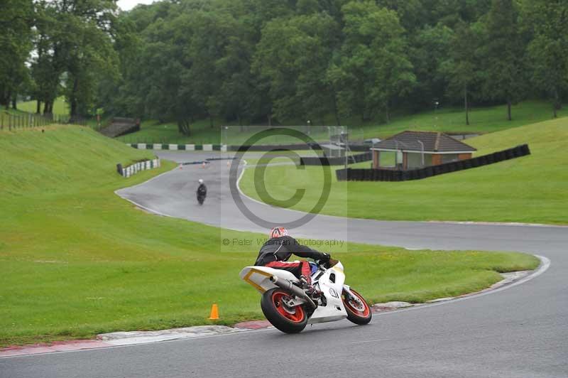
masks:
POLYGON ((504 99, 507 119, 511 104, 523 98, 523 53, 525 41, 518 25, 518 9, 513 0, 492 0, 486 19, 484 44, 484 94, 504 99))

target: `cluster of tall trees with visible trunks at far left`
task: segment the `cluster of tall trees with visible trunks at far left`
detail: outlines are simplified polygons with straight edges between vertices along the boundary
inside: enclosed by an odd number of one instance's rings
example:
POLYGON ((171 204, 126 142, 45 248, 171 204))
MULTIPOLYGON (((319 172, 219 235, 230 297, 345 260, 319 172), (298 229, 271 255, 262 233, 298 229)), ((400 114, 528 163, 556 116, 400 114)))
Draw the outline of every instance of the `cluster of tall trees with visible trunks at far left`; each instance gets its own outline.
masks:
POLYGON ((53 113, 65 95, 72 116, 89 114, 101 77, 118 75, 114 0, 2 0, 0 104, 27 95, 53 113))

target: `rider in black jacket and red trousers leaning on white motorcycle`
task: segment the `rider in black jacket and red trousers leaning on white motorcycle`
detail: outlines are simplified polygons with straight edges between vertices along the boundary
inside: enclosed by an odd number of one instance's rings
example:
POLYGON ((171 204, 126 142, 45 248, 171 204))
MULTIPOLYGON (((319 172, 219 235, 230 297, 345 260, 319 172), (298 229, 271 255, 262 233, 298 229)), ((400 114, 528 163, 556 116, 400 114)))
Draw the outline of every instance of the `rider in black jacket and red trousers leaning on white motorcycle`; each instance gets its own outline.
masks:
POLYGON ((290 262, 290 256, 295 254, 298 257, 310 257, 312 259, 329 261, 329 254, 318 252, 297 242, 296 239, 288 235, 288 230, 284 227, 274 227, 268 234, 268 239, 256 258, 256 266, 268 266, 273 269, 283 269, 294 274, 305 286, 308 295, 317 297, 320 292, 312 286, 312 275, 310 263, 305 260, 290 262))

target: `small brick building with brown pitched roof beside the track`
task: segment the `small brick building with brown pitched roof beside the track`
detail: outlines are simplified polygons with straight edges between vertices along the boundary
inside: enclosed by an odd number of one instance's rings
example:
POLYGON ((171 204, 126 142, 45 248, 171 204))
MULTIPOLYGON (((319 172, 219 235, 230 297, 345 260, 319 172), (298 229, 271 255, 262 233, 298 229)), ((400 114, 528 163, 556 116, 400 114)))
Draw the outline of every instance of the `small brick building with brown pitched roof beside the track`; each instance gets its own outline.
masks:
POLYGON ((373 168, 417 169, 471 158, 476 148, 447 134, 403 131, 371 148, 373 168))

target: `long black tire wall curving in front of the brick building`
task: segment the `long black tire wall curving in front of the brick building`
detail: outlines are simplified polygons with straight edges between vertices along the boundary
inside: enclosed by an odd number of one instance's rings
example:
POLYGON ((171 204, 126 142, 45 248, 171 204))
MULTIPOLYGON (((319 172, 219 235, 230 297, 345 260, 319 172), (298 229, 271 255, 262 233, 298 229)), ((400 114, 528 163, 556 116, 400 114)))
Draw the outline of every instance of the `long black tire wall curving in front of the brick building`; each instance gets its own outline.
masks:
POLYGON ((420 180, 444 173, 463 171, 464 169, 487 166, 489 164, 506 161, 521 156, 530 155, 528 144, 516 146, 503 151, 489 153, 488 155, 476 158, 452 161, 451 163, 440 164, 410 171, 395 171, 391 169, 338 169, 335 171, 338 181, 407 181, 420 180))

